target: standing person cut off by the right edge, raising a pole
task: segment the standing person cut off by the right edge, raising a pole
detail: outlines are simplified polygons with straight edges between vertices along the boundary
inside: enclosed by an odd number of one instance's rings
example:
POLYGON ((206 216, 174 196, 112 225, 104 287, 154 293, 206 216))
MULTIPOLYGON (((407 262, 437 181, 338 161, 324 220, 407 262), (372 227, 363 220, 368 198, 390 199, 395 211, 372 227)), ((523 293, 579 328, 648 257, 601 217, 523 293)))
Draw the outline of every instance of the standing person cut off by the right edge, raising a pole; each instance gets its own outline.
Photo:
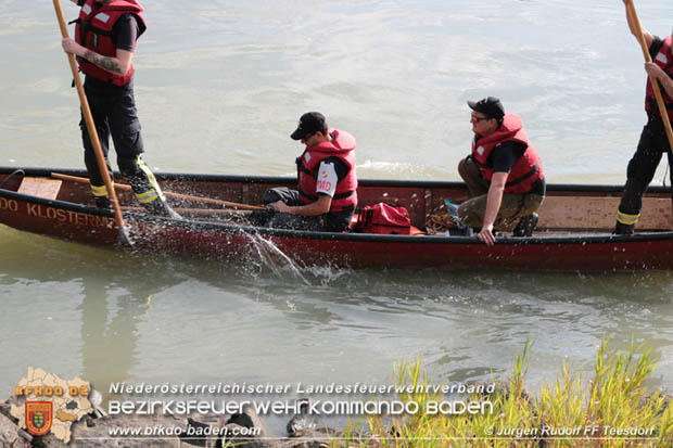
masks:
MULTIPOLYGON (((627 5, 630 1, 624 0, 624 4, 627 5)), ((626 22, 631 33, 636 36, 636 25, 628 8, 626 8, 626 22)), ((643 208, 643 194, 652 181, 663 153, 666 153, 669 157, 669 166, 673 162, 671 146, 650 81, 655 78, 659 82, 666 105, 668 116, 665 119, 673 123, 673 53, 671 51, 673 38, 668 36, 665 39, 661 39, 645 28, 643 28, 643 36, 652 57, 652 62, 645 63, 645 72, 648 75, 645 94, 647 124, 643 128, 638 148, 626 168, 626 184, 617 212, 614 227, 617 234, 632 234, 634 232, 643 208)), ((671 170, 671 182, 673 183, 673 170, 671 170)))

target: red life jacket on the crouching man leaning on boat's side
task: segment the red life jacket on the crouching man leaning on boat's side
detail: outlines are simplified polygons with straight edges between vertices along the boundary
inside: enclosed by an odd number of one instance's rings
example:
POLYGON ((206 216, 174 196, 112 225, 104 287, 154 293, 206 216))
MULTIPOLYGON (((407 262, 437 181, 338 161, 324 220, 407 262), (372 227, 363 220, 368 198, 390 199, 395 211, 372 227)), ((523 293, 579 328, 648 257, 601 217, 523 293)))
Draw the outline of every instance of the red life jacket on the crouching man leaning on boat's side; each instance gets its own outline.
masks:
POLYGON ((493 168, 487 166, 488 156, 495 146, 506 141, 520 142, 526 145, 525 152, 515 162, 507 176, 505 193, 529 193, 537 180, 545 177, 542 161, 535 148, 529 142, 523 130, 523 121, 516 114, 505 114, 503 124, 493 133, 472 140, 472 159, 479 167, 482 176, 491 181, 493 168))

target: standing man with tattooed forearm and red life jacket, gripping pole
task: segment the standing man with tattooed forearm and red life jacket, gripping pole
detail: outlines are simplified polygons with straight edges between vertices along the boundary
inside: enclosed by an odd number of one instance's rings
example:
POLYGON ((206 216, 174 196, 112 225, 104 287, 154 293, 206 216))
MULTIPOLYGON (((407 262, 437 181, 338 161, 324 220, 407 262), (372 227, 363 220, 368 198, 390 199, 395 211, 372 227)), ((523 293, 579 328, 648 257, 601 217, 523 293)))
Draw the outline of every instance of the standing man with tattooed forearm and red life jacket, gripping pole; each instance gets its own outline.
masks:
MULTIPOLYGON (((81 7, 75 21, 75 40, 62 40, 63 50, 77 56, 85 73, 84 88, 101 141, 107 169, 109 138, 112 136, 122 176, 150 213, 179 218, 166 203, 154 175, 141 158, 140 121, 134 97, 134 51, 144 33, 142 7, 136 0, 72 0, 81 7)), ((85 164, 91 193, 100 208, 110 208, 107 189, 101 177, 84 117, 79 123, 85 164)))

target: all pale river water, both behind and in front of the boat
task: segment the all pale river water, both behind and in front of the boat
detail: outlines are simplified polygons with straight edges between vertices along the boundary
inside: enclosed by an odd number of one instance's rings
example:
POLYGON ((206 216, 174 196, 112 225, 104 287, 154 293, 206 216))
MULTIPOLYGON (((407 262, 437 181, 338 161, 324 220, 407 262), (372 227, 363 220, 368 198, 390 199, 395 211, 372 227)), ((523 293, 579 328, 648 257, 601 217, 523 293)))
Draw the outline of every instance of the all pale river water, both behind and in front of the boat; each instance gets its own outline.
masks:
MULTIPOLYGON (((358 139, 366 178, 457 180, 468 99, 519 113, 550 182, 622 183, 645 73, 622 2, 145 0, 136 94, 157 171, 291 175, 299 116, 358 139)), ((64 2, 67 17, 76 8, 64 2)), ((673 3, 637 4, 652 33, 673 3)), ((81 167, 49 2, 0 2, 0 165, 81 167), (38 4, 42 3, 42 4, 38 4)), ((665 167, 655 179, 660 184, 665 167)), ((503 375, 528 337, 533 392, 596 345, 650 341, 673 388, 669 273, 295 270, 129 255, 0 227, 0 397, 28 366, 113 381, 389 384, 503 375)))

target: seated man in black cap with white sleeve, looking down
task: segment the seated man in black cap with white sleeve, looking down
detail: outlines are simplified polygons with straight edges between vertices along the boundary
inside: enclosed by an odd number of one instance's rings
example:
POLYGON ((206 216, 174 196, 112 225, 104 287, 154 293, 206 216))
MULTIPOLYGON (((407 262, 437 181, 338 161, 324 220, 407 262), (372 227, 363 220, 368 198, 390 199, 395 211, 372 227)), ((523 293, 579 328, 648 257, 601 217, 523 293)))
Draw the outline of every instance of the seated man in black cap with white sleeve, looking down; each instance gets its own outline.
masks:
POLYGON ((355 138, 328 128, 325 116, 308 112, 290 136, 306 145, 296 159, 297 190, 267 191, 262 202, 276 214, 269 227, 341 232, 357 206, 355 138))

